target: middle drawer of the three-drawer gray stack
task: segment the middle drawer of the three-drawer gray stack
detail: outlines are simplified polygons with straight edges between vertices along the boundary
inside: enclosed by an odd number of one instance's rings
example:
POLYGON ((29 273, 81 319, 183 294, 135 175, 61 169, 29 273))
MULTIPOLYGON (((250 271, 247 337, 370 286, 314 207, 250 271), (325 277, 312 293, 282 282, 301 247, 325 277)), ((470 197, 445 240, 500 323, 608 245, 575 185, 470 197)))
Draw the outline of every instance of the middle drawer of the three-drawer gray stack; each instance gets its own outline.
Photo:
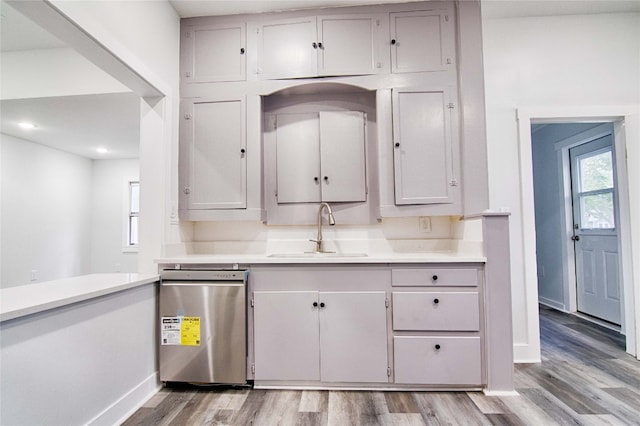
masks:
POLYGON ((478 331, 478 292, 399 292, 393 296, 396 331, 478 331))

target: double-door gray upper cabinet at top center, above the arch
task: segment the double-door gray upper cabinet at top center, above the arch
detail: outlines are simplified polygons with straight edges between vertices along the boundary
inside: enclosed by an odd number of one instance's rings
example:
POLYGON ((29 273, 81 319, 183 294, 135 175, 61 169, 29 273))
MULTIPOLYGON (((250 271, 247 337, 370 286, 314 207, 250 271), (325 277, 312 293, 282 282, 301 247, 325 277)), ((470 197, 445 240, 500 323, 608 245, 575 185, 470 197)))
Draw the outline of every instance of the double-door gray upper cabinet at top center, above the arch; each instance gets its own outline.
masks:
POLYGON ((376 74, 379 15, 301 17, 258 28, 258 78, 376 74))

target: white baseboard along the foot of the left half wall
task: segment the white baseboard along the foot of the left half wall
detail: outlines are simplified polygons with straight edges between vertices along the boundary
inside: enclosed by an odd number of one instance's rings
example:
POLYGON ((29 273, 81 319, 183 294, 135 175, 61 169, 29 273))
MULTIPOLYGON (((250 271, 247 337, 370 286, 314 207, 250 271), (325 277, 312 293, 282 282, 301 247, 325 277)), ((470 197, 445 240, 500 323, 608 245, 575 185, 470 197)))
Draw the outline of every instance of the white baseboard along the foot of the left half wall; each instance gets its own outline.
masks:
MULTIPOLYGON (((99 384, 98 384, 99 385, 99 384)), ((89 425, 119 425, 127 420, 155 395, 161 388, 160 377, 156 371, 129 392, 122 395, 120 399, 105 408, 100 414, 91 419, 89 425)))

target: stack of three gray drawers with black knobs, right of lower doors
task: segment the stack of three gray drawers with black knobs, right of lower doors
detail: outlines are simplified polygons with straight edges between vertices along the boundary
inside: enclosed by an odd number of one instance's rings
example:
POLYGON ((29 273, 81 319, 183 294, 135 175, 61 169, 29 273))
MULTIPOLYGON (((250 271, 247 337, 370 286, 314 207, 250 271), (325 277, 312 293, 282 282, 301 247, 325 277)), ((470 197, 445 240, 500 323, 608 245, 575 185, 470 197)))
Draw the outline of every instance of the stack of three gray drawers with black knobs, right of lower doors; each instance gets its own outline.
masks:
POLYGON ((395 383, 481 386, 480 271, 398 268, 391 277, 395 383))

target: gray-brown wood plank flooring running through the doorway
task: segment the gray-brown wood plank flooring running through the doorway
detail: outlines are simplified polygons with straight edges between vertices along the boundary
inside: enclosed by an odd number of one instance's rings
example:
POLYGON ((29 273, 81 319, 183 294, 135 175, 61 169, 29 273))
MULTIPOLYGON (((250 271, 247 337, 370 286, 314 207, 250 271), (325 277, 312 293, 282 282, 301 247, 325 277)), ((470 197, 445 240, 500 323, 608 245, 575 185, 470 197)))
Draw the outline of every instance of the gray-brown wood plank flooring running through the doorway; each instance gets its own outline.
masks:
POLYGON ((640 361, 624 337, 541 307, 542 363, 517 364, 519 395, 174 387, 131 425, 640 425, 640 361))

